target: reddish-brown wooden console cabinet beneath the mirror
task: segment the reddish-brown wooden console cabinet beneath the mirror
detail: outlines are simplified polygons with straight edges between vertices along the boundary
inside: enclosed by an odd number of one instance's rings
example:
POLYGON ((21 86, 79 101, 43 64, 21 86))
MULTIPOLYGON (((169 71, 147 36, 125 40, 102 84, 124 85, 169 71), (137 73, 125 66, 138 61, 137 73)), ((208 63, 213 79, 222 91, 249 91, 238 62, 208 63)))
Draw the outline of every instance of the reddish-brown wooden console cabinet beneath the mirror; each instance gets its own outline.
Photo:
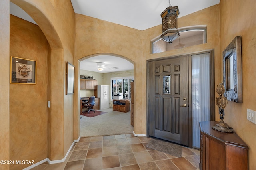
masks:
POLYGON ((212 129, 216 121, 199 122, 200 170, 247 170, 248 146, 234 133, 212 129))

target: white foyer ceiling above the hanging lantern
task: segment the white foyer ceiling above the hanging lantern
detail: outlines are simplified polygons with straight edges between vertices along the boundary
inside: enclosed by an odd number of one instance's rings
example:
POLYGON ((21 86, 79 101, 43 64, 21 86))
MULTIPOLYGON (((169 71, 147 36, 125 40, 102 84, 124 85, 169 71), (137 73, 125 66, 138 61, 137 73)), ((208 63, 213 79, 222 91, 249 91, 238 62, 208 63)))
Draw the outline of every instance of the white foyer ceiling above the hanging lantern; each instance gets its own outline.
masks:
MULTIPOLYGON (((160 14, 168 0, 71 0, 75 13, 91 16, 138 30, 162 24, 160 14)), ((220 0, 171 0, 182 17, 219 4, 220 0)))

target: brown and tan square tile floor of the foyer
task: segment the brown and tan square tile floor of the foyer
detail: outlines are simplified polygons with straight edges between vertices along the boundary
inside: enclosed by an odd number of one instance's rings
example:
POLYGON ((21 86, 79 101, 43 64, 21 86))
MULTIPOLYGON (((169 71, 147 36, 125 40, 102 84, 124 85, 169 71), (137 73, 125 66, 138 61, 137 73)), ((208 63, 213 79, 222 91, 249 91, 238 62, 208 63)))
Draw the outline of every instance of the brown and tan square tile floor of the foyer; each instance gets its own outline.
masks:
POLYGON ((133 134, 80 138, 63 163, 33 170, 198 170, 199 150, 182 147, 182 158, 146 147, 151 140, 133 134))

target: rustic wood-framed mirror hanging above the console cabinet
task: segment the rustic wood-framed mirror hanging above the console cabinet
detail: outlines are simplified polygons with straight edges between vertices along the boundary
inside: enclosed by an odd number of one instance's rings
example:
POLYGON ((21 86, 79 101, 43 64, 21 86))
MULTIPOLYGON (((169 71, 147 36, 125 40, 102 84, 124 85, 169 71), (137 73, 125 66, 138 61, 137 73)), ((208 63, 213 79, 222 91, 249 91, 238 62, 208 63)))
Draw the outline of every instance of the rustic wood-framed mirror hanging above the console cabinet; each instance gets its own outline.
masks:
POLYGON ((226 90, 224 96, 227 97, 228 100, 243 103, 241 36, 236 36, 223 51, 223 85, 226 90), (231 56, 233 68, 228 65, 231 56), (231 76, 229 76, 229 73, 232 73, 233 80, 230 80, 231 76), (232 81, 233 89, 228 88, 228 81, 232 81))

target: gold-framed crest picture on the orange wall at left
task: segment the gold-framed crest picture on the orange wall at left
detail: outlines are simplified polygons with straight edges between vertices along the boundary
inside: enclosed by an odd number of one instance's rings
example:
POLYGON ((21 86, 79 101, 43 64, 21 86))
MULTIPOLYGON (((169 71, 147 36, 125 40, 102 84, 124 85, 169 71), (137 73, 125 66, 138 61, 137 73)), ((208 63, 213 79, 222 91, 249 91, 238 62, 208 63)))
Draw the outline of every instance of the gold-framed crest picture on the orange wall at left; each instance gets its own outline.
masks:
POLYGON ((10 83, 36 84, 36 61, 19 57, 10 58, 10 83))

